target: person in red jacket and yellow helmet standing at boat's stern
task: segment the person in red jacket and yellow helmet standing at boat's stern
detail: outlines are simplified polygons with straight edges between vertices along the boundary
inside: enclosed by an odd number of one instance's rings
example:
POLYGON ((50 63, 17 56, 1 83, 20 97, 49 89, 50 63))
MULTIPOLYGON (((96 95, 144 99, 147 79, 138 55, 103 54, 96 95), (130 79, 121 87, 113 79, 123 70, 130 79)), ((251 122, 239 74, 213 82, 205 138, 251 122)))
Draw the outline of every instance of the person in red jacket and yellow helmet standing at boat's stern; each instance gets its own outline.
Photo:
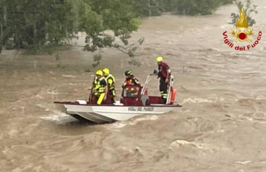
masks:
POLYGON ((156 75, 158 75, 158 78, 160 78, 161 97, 162 97, 163 103, 166 104, 167 89, 170 85, 169 80, 170 80, 171 70, 168 64, 163 62, 162 56, 158 56, 156 58, 156 62, 158 64, 158 70, 159 70, 158 73, 156 73, 156 75))

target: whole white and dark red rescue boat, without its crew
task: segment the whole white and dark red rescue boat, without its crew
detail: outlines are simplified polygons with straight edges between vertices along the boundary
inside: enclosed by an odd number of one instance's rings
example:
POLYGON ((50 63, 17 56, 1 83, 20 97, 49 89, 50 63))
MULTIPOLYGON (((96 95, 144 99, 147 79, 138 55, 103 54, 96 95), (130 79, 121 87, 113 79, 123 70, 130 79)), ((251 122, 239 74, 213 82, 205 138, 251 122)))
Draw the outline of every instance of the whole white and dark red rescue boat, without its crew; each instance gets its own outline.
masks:
POLYGON ((167 102, 163 104, 161 96, 149 96, 147 85, 150 81, 148 75, 143 87, 125 85, 120 101, 113 102, 107 99, 101 105, 96 104, 97 97, 91 94, 89 101, 77 100, 74 102, 54 102, 57 109, 79 120, 89 120, 96 123, 109 123, 128 120, 132 117, 145 114, 164 114, 182 107, 174 104, 176 90, 172 88, 173 76, 170 79, 167 102))

